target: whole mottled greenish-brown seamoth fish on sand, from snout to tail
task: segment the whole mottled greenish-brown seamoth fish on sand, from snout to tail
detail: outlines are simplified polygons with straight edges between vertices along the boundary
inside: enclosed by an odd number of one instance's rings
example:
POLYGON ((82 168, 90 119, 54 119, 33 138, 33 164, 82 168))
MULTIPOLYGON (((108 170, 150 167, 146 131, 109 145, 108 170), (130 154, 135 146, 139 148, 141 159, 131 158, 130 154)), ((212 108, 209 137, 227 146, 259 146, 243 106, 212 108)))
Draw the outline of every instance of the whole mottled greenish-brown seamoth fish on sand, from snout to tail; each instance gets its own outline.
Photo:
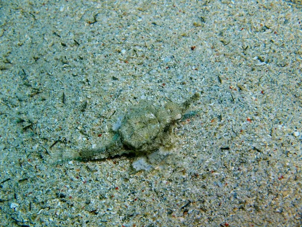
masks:
POLYGON ((103 159, 134 152, 150 154, 161 147, 171 147, 169 137, 175 123, 181 120, 193 101, 199 98, 195 93, 183 103, 168 101, 164 107, 141 101, 128 108, 123 117, 113 125, 112 141, 94 149, 82 149, 84 160, 103 159))

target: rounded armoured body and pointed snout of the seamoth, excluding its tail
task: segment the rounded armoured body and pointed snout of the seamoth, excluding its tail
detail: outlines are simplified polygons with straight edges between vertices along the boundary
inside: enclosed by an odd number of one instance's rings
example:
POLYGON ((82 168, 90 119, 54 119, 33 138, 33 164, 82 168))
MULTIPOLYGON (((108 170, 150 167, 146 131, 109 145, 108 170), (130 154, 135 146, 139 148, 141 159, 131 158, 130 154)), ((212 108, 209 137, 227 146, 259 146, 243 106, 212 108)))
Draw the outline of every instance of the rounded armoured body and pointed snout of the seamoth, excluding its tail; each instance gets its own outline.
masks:
POLYGON ((130 107, 118 130, 123 145, 136 152, 158 149, 164 145, 171 126, 198 98, 196 93, 181 104, 169 101, 165 107, 155 107, 152 103, 140 102, 130 107))

